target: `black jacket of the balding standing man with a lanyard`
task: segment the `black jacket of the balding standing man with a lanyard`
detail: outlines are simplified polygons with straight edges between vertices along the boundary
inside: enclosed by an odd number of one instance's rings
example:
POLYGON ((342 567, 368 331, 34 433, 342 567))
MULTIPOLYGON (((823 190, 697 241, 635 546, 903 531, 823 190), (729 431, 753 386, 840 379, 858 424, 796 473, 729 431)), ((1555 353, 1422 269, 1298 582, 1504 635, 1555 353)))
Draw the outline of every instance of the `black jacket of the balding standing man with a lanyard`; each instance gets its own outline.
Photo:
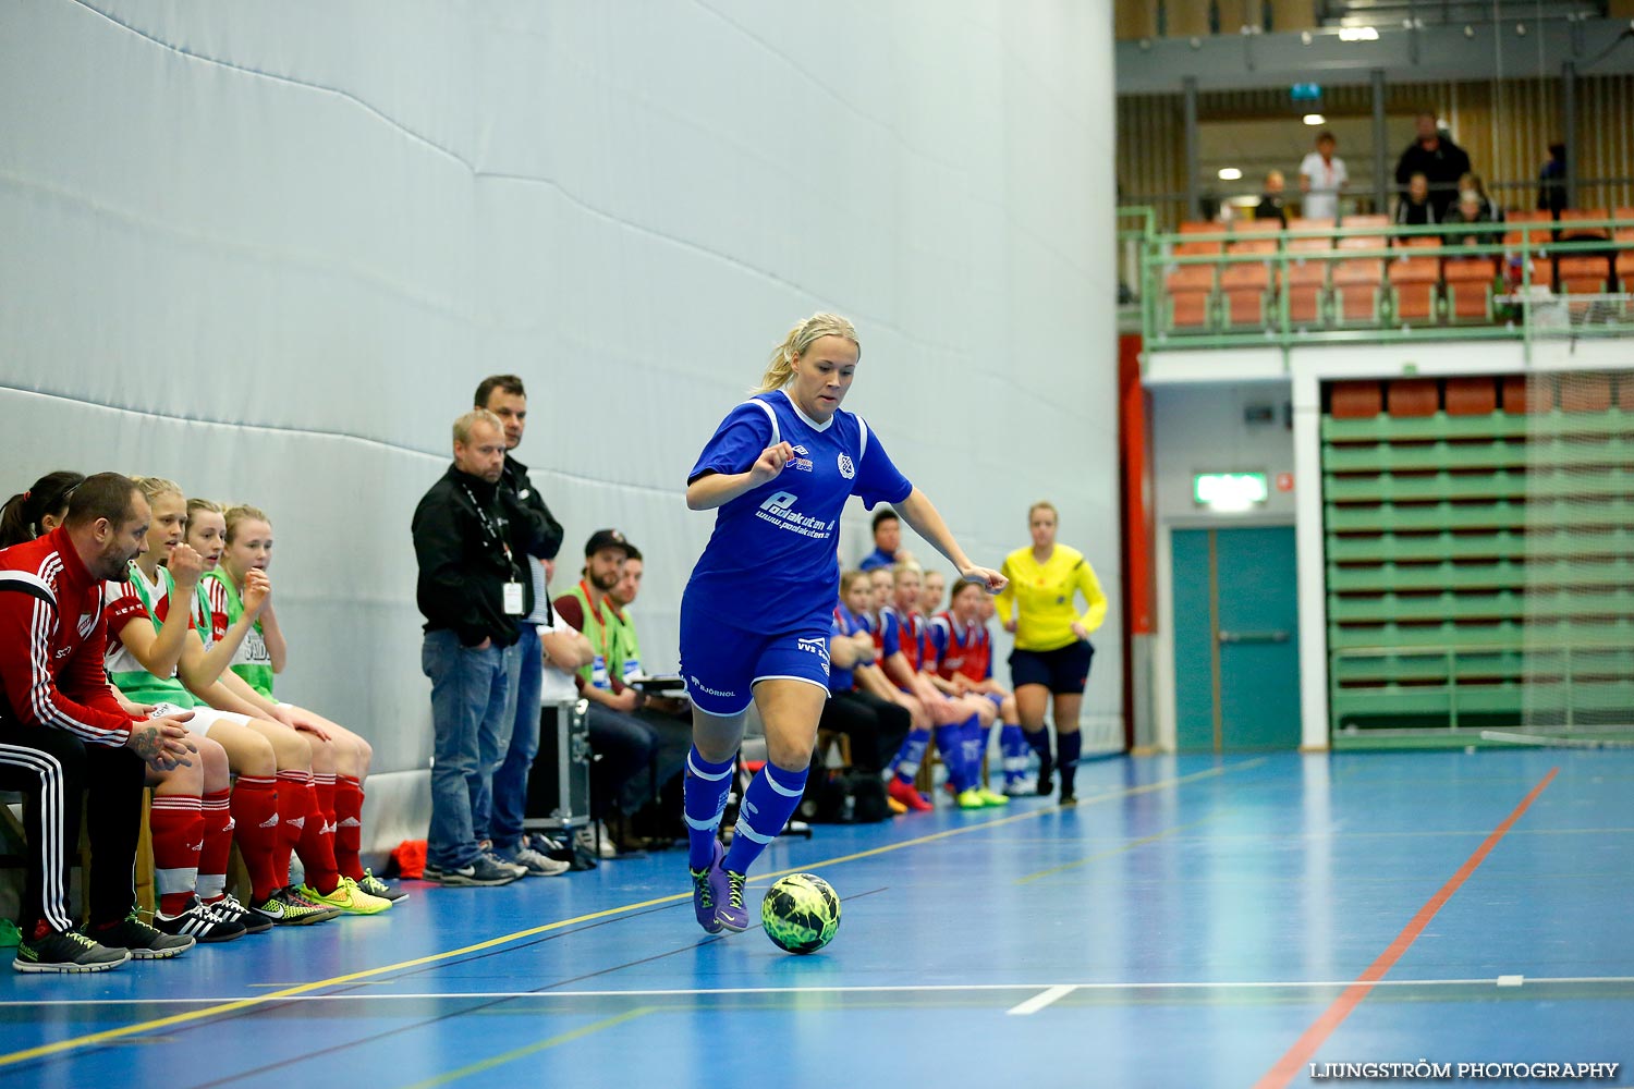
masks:
POLYGON ((484 638, 500 647, 515 643, 521 617, 505 612, 505 583, 529 585, 521 557, 539 547, 536 532, 536 519, 508 488, 449 465, 413 513, 413 552, 420 560, 415 602, 425 614, 425 630, 451 629, 464 647, 484 638))

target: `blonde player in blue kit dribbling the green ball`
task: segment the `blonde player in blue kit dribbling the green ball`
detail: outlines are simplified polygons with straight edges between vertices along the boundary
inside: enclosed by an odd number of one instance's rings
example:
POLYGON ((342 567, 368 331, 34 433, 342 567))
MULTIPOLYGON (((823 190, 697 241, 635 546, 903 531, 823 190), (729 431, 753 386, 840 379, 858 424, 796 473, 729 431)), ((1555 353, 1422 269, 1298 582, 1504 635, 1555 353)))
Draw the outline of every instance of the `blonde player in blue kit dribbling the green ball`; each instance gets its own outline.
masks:
POLYGON ((681 673, 693 699, 686 758, 693 908, 709 934, 748 929, 743 878, 806 790, 828 699, 828 629, 838 593, 840 511, 851 495, 891 503, 959 576, 1003 588, 975 567, 941 514, 897 472, 861 416, 840 410, 856 330, 833 313, 799 322, 750 400, 716 429, 686 477, 686 506, 719 511, 681 596, 681 673), (717 839, 750 700, 770 761, 743 792, 730 851, 717 839))

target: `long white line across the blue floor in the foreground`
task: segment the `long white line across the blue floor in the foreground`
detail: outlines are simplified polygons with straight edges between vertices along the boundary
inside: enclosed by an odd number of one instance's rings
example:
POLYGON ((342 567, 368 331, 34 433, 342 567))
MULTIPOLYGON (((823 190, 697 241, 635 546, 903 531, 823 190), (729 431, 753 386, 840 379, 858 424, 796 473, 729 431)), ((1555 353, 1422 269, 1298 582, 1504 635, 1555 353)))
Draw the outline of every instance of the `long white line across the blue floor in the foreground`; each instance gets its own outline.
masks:
MULTIPOLYGON (((1374 988, 1410 986, 1515 986, 1515 976, 1482 976, 1471 980, 1379 980, 1374 988)), ((1634 976, 1525 976, 1525 986, 1539 983, 1634 983, 1634 976)), ((1155 981, 1155 983, 899 983, 879 986, 745 986, 745 988, 672 988, 645 991, 417 991, 351 993, 351 994, 291 994, 266 999, 261 994, 214 994, 209 998, 83 998, 83 999, 28 999, 0 1001, 0 1009, 23 1006, 211 1006, 216 1002, 408 1002, 428 999, 510 999, 510 998, 712 998, 734 994, 904 994, 941 991, 1270 991, 1270 989, 1330 989, 1348 988, 1355 980, 1239 980, 1239 981, 1155 981)), ((1059 999, 1057 994, 1051 1001, 1059 999)))

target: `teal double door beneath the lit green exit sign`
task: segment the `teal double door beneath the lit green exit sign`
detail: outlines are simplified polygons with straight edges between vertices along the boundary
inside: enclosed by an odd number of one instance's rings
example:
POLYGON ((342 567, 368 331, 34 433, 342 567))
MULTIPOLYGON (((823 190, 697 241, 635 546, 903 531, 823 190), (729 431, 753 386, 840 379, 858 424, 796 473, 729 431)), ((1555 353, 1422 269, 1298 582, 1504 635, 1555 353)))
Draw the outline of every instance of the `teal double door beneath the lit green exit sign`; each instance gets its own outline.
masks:
POLYGON ((1297 749, 1292 527, 1176 529, 1172 553, 1176 746, 1297 749))

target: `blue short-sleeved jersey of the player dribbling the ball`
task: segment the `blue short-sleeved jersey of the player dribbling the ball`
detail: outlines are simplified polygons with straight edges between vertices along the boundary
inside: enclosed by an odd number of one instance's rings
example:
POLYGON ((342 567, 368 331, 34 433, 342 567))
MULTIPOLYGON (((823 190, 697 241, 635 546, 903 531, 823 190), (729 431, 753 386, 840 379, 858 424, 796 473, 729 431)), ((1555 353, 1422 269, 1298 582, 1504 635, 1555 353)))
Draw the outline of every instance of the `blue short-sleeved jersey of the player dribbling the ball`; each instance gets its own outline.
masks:
POLYGON ((835 411, 819 424, 783 390, 727 413, 686 482, 748 472, 776 442, 792 446, 794 456, 781 473, 716 511, 686 596, 745 632, 827 632, 838 596, 845 501, 856 495, 869 508, 900 503, 913 485, 861 416, 835 411))

